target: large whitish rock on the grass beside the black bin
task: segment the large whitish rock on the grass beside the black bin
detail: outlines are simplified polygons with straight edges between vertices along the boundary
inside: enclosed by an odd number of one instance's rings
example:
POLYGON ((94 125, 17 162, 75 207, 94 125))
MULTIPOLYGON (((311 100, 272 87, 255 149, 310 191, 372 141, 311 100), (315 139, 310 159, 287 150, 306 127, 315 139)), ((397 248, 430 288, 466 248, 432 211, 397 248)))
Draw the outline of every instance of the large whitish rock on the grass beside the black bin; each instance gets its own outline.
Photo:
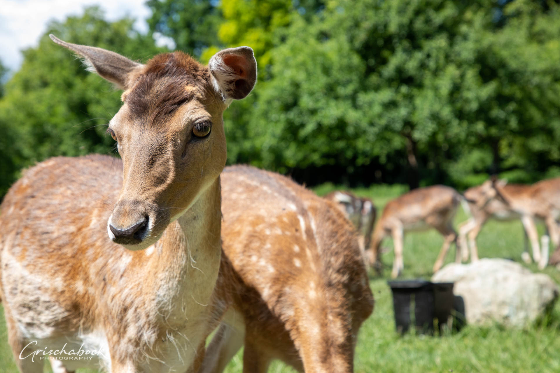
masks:
POLYGON ((468 324, 500 323, 522 327, 533 322, 558 298, 558 285, 506 259, 484 258, 467 265, 451 263, 432 282, 455 282, 468 324))

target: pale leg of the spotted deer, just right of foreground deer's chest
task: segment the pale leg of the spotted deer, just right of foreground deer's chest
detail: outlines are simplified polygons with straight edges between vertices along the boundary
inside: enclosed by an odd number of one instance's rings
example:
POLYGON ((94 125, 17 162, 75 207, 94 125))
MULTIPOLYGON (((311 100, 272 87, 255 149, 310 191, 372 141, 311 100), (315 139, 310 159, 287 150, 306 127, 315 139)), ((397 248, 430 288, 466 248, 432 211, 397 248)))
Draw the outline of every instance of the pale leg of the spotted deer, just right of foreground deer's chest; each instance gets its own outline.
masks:
POLYGON ((243 346, 245 329, 239 330, 222 323, 206 350, 200 373, 221 373, 243 346))

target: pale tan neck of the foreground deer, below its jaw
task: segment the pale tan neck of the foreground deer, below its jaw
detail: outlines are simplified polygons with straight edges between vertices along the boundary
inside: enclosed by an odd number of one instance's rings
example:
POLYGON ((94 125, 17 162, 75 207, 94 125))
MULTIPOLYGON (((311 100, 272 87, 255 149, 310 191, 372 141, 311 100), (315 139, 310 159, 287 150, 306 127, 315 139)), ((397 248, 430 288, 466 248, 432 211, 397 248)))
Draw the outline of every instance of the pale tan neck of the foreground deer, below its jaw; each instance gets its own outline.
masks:
MULTIPOLYGON (((197 201, 172 222, 158 240, 154 264, 158 296, 168 322, 204 313, 218 277, 221 258, 220 178, 204 190, 197 201)), ((153 255, 153 254, 152 254, 153 255)))

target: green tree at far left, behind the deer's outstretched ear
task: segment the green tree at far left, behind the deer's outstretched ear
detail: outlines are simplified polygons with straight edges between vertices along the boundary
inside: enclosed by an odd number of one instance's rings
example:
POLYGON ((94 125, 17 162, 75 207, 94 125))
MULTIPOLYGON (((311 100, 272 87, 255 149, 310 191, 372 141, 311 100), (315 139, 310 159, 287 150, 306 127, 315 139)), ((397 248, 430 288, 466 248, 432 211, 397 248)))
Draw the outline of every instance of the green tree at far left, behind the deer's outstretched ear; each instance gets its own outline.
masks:
POLYGON ((0 100, 0 125, 9 126, 9 147, 0 153, 0 195, 18 171, 53 155, 112 153, 106 124, 118 111, 120 92, 86 72, 48 37, 52 33, 77 44, 95 45, 142 60, 162 51, 150 36, 138 34, 133 20, 104 20, 90 7, 80 17, 53 22, 37 48, 24 51, 24 62, 6 83, 0 100))

